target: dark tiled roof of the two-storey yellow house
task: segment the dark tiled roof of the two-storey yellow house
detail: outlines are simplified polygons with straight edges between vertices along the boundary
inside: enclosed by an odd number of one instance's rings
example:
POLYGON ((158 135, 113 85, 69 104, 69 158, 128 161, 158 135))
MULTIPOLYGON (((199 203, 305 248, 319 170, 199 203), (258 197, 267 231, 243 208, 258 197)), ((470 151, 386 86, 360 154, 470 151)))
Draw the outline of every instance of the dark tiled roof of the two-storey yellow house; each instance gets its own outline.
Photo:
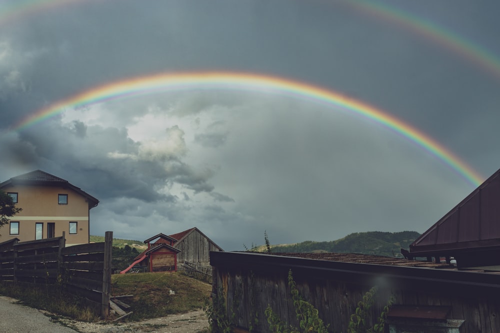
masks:
POLYGON ((88 207, 93 208, 97 206, 99 200, 91 196, 90 194, 82 191, 79 187, 70 184, 67 180, 56 177, 49 173, 41 170, 31 171, 19 176, 12 177, 2 183, 0 183, 0 189, 7 186, 15 185, 39 185, 39 186, 60 186, 64 188, 69 188, 76 193, 85 197, 88 201, 88 207))

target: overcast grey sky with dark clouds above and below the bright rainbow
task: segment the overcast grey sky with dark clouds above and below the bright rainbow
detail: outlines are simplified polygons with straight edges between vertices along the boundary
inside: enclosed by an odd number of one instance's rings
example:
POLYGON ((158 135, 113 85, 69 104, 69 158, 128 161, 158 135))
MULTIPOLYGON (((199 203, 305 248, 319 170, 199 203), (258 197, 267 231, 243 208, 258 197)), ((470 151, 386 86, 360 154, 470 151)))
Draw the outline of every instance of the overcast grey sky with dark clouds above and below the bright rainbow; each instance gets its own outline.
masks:
POLYGON ((475 185, 349 110, 184 88, 29 115, 97 86, 245 72, 348 96, 500 168, 500 2, 0 0, 0 181, 43 170, 99 199, 90 234, 198 227, 224 250, 423 232, 475 185), (33 2, 36 4, 29 4, 33 2))

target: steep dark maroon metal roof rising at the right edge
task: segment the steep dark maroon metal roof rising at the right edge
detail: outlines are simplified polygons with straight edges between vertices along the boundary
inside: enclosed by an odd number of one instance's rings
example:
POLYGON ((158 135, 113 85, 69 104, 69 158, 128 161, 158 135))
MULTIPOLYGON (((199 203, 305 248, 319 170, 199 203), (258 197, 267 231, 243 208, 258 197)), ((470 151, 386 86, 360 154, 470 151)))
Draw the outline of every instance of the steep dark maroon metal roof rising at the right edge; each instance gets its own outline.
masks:
MULTIPOLYGON (((500 250, 499 202, 500 170, 418 237, 405 255, 463 257, 471 251, 500 250)), ((487 264, 484 253, 481 257, 487 264)))

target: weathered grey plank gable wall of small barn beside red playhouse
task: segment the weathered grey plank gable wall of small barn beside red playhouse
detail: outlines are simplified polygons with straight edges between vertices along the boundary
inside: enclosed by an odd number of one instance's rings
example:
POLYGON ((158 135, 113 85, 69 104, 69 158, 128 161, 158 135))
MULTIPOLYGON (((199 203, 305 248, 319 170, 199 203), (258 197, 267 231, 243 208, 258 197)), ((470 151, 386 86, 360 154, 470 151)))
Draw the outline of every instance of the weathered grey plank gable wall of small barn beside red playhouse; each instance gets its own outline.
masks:
POLYGON ((181 241, 175 243, 174 247, 181 251, 177 255, 180 263, 187 261, 201 266, 210 266, 210 251, 220 251, 197 230, 187 234, 181 241))

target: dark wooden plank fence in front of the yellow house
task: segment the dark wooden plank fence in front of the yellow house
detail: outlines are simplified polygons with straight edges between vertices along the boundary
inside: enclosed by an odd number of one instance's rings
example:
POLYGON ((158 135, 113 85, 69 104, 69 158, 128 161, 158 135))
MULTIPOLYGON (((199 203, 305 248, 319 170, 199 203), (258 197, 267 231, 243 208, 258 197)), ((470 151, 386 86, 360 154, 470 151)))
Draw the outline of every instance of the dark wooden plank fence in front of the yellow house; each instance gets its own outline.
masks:
POLYGON ((62 237, 0 243, 0 280, 13 283, 55 285, 86 297, 109 314, 113 233, 104 242, 65 247, 62 237))

